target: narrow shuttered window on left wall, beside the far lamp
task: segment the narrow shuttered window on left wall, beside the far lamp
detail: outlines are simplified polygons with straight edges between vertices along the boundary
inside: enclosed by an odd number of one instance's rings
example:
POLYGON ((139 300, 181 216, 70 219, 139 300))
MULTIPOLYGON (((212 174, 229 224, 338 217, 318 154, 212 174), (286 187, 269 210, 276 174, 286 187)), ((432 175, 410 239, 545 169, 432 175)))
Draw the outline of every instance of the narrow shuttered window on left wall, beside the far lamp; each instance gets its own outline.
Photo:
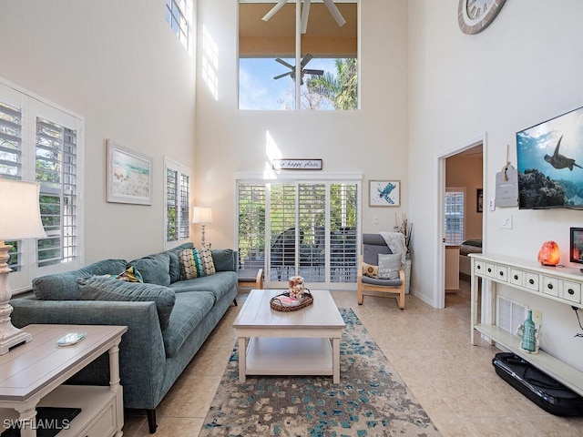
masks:
POLYGON ((190 170, 165 158, 166 242, 188 239, 190 235, 190 170))

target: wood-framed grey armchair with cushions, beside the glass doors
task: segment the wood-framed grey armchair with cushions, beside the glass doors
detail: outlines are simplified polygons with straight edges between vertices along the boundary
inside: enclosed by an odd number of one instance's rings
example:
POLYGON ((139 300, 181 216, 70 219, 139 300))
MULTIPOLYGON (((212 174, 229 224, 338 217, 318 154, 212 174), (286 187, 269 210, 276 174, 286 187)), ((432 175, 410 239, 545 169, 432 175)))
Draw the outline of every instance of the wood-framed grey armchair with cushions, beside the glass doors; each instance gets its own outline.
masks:
POLYGON ((363 234, 363 254, 359 257, 357 286, 359 305, 363 304, 363 295, 373 291, 387 293, 389 297, 396 298, 399 308, 404 310, 404 269, 401 254, 393 254, 380 234, 363 234), (382 259, 381 266, 379 255, 382 259))

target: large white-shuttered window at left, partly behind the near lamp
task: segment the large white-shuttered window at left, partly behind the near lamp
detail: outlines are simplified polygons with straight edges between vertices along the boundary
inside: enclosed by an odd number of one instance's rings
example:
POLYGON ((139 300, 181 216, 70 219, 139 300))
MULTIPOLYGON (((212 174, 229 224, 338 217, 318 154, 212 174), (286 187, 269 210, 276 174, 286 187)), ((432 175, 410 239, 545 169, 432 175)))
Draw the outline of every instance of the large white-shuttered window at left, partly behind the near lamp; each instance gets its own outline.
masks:
POLYGON ((46 239, 10 241, 9 281, 26 290, 37 276, 76 269, 83 253, 78 175, 81 117, 0 80, 0 175, 40 185, 46 239))

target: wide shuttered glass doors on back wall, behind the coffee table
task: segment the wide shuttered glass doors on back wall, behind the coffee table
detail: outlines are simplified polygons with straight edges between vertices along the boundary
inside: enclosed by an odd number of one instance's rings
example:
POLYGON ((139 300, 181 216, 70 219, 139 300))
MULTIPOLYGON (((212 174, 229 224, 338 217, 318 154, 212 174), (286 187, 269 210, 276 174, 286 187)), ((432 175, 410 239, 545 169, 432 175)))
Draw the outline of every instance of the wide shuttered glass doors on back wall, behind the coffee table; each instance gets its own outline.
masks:
POLYGON ((237 191, 240 269, 264 268, 275 288, 296 275, 335 289, 356 281, 360 179, 241 179, 237 191))

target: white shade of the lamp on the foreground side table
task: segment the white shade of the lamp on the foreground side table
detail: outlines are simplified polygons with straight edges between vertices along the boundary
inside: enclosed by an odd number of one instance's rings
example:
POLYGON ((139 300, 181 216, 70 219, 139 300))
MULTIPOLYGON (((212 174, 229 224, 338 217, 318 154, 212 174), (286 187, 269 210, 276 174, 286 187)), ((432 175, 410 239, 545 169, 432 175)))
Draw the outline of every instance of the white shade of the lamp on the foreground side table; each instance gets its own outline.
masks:
POLYGON ((39 193, 36 183, 0 178, 0 240, 46 238, 39 193))

